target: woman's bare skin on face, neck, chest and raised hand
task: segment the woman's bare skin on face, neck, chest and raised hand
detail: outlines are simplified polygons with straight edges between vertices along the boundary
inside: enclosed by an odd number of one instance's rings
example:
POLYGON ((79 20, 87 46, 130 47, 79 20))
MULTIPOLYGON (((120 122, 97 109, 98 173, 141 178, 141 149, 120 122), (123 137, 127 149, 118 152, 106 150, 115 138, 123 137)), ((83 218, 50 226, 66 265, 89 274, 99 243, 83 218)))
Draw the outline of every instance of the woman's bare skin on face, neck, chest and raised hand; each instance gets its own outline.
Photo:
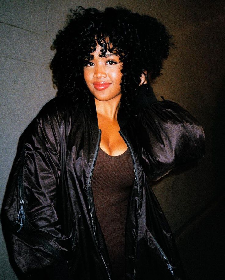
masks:
MULTIPOLYGON (((98 127, 101 129, 100 147, 108 155, 117 156, 127 150, 127 145, 119 134, 117 113, 121 98, 121 68, 122 63, 115 54, 106 53, 100 57, 101 46, 91 53, 94 58, 84 66, 84 79, 90 92, 94 95, 98 118, 98 127), (111 61, 112 60, 112 61, 111 61), (99 90, 94 87, 95 82, 110 83, 108 88, 99 90)), ((144 75, 141 84, 147 83, 144 75)))

